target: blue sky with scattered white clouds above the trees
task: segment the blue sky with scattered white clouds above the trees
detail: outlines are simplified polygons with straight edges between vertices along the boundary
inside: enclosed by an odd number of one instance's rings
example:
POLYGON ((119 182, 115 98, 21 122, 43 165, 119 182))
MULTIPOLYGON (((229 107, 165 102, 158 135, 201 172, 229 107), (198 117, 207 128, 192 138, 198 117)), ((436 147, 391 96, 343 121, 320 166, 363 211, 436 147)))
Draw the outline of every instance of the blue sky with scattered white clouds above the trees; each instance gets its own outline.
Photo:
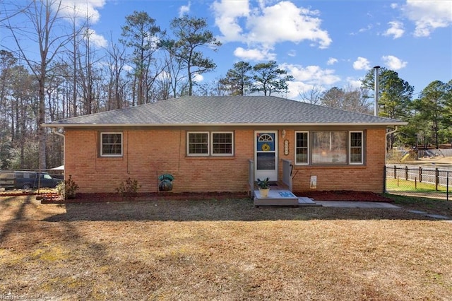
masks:
POLYGON ((218 52, 206 49, 218 68, 198 81, 224 76, 237 61, 254 65, 270 59, 295 77, 287 95, 292 99, 313 86, 356 87, 377 65, 397 71, 415 93, 432 81, 452 79, 452 1, 64 2, 90 12, 98 47, 108 47, 110 35, 119 38, 133 11, 146 11, 161 28, 182 13, 207 18, 222 46, 218 52))

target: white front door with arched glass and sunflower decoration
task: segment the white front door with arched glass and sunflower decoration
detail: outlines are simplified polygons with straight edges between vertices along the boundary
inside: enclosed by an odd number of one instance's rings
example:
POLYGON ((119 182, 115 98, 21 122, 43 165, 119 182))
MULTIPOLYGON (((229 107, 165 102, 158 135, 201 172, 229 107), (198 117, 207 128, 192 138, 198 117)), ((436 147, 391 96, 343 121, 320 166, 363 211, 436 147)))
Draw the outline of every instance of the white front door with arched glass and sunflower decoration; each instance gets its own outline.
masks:
POLYGON ((278 181, 278 131, 256 131, 254 140, 254 176, 278 181))

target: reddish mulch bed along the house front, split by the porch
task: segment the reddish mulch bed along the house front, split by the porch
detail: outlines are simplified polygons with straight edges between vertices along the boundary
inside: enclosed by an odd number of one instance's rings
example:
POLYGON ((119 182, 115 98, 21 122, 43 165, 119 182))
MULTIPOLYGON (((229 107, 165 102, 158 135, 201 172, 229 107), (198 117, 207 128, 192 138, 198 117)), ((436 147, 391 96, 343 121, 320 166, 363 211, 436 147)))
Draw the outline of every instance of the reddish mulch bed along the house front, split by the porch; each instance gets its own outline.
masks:
MULTIPOLYGON (((294 192, 297 196, 307 196, 314 201, 379 201, 391 202, 380 194, 368 191, 300 191, 294 192)), ((156 201, 156 200, 206 200, 206 199, 245 199, 249 195, 246 192, 150 192, 138 193, 133 196, 121 196, 115 193, 77 194, 76 199, 64 200, 58 194, 42 194, 37 196, 41 203, 98 203, 120 201, 156 201)))

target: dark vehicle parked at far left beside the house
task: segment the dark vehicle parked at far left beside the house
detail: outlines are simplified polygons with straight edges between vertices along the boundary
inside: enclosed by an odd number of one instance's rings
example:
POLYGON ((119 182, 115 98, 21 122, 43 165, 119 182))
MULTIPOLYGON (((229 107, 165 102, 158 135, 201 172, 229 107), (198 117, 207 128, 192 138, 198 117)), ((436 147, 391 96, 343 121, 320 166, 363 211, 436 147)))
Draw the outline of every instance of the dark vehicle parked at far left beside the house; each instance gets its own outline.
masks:
POLYGON ((52 178, 47 172, 0 171, 0 188, 5 190, 54 188, 62 181, 62 179, 52 178))

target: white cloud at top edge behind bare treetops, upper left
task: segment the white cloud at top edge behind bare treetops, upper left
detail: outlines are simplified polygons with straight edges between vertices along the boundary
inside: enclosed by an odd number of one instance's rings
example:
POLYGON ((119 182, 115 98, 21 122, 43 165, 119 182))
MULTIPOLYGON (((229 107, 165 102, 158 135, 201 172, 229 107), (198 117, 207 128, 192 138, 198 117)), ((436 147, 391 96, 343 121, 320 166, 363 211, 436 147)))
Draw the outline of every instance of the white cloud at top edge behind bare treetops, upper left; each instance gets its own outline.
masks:
MULTIPOLYGON (((60 12, 62 16, 68 18, 76 18, 78 23, 86 22, 89 18, 89 23, 97 23, 100 19, 99 9, 104 7, 106 0, 62 0, 60 12)), ((55 5, 58 2, 55 2, 55 5)))

